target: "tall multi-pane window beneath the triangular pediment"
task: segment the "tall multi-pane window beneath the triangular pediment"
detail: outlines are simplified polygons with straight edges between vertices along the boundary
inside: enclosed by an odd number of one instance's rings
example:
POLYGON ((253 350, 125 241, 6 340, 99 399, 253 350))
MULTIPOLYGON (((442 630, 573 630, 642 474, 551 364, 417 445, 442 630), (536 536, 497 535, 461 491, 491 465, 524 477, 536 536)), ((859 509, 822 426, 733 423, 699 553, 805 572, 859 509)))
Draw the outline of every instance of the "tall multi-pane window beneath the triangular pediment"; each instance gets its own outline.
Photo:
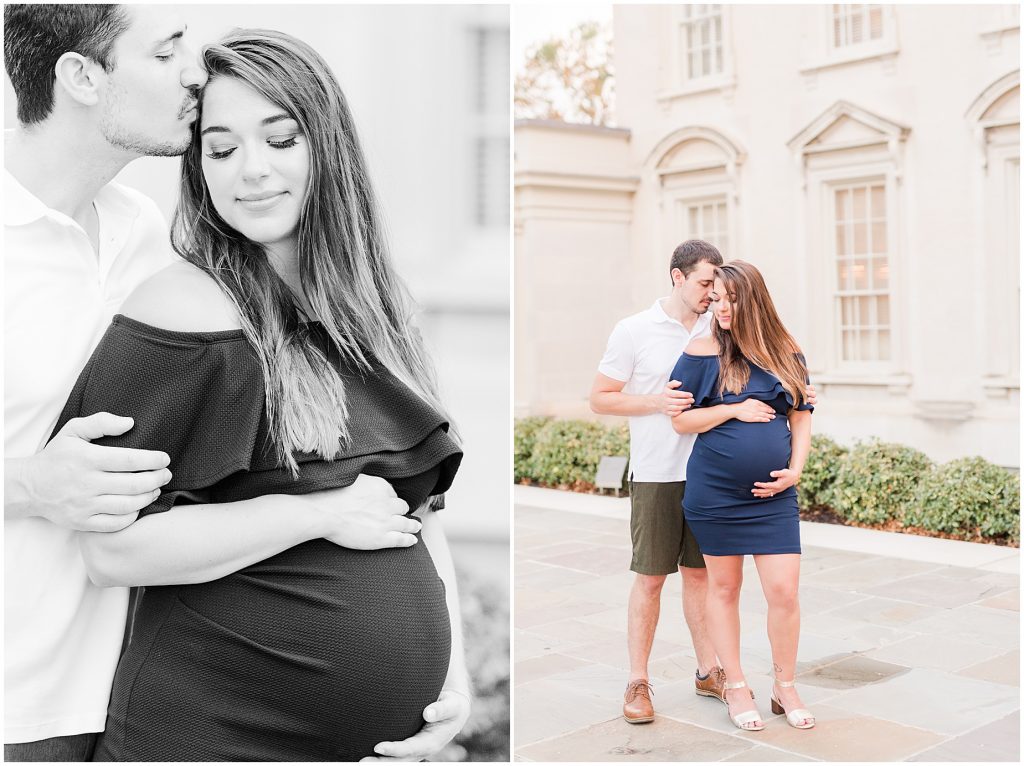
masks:
POLYGON ((840 359, 892 359, 889 221, 883 180, 833 190, 840 359))

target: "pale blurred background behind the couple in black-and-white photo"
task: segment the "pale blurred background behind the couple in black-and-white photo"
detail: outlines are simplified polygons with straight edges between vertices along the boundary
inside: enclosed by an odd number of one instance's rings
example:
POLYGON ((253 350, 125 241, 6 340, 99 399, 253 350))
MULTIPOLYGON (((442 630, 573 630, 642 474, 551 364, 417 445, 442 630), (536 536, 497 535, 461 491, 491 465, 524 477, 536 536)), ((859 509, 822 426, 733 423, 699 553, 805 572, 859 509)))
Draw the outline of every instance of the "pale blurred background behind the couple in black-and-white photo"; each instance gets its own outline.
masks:
MULTIPOLYGON (((508 760, 509 8, 185 5, 182 12, 197 47, 236 27, 293 34, 327 59, 345 91, 392 253, 421 306, 465 442, 442 512, 481 693, 463 740, 474 760, 508 760)), ((4 126, 12 128, 6 77, 4 87, 4 126)), ((143 158, 117 180, 156 200, 170 220, 178 169, 178 160, 143 158)))

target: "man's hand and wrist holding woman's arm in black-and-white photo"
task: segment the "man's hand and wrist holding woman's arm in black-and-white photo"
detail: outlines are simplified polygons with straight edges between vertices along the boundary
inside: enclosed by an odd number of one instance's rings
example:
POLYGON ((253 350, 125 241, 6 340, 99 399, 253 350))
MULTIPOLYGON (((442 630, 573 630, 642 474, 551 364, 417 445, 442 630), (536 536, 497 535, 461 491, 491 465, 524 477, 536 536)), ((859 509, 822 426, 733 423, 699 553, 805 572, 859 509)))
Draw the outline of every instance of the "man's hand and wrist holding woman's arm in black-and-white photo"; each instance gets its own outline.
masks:
POLYGON ((40 452, 4 460, 4 517, 41 516, 89 531, 123 529, 171 480, 166 453, 89 443, 119 436, 131 418, 96 413, 69 420, 40 452))

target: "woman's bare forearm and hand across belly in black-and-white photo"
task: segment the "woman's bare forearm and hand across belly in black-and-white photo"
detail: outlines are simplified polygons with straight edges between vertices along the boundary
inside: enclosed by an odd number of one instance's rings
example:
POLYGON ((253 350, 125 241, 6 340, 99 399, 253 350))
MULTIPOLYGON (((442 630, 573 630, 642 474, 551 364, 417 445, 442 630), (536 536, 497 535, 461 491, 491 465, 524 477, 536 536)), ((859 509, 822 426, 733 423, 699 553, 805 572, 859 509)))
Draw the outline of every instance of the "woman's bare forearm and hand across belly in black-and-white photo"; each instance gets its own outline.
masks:
POLYGON ((359 475, 339 490, 178 505, 120 531, 81 533, 98 586, 188 585, 225 577, 308 540, 359 550, 416 544, 420 522, 385 479, 359 475))

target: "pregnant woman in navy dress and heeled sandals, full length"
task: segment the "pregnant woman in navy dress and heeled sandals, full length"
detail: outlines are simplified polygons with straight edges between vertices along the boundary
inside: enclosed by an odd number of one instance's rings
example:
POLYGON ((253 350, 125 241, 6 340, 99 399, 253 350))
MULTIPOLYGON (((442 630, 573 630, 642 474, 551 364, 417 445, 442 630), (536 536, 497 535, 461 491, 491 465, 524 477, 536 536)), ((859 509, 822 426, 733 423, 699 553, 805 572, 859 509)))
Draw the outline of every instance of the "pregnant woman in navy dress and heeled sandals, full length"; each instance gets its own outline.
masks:
POLYGON ((811 439, 807 368, 782 326, 761 272, 732 261, 716 269, 712 336, 692 341, 672 372, 693 393, 675 416, 678 433, 699 434, 686 475, 686 522, 708 564, 708 634, 725 669, 729 718, 764 723, 739 661, 739 588, 752 554, 768 601, 775 683, 771 707, 791 726, 814 717, 794 688, 800 638, 800 515, 797 491, 811 439))

